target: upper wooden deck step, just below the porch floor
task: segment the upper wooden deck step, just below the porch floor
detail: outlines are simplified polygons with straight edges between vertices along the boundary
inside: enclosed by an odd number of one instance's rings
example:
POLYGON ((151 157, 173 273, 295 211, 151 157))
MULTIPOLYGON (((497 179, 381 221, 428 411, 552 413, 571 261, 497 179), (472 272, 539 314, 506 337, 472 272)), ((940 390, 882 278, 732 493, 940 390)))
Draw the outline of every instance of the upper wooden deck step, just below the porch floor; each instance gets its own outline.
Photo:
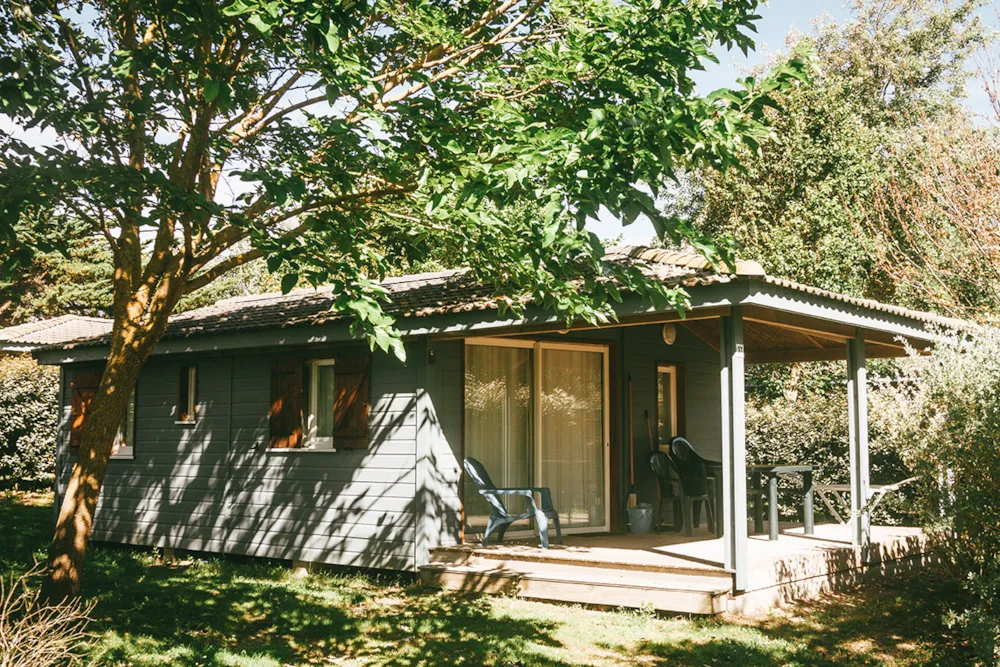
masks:
MULTIPOLYGON (((610 550, 609 550, 610 551, 610 550)), ((723 582, 731 582, 733 573, 722 567, 697 562, 689 562, 677 557, 663 555, 650 559, 643 551, 627 551, 615 549, 613 554, 604 554, 601 550, 589 549, 577 551, 573 549, 524 549, 476 547, 467 544, 436 547, 431 550, 430 562, 436 565, 467 565, 521 570, 524 563, 544 563, 567 567, 588 567, 627 572, 667 573, 710 577, 723 582)))

